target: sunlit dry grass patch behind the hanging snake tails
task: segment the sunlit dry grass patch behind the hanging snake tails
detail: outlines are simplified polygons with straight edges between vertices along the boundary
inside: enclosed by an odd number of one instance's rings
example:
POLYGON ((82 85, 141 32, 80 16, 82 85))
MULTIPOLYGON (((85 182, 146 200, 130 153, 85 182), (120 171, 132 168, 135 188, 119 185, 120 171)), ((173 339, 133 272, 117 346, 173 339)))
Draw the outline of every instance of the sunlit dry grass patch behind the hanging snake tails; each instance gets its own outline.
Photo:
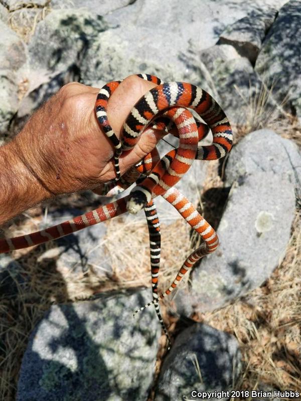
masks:
MULTIPOLYGON (((148 231, 144 219, 132 221, 127 216, 124 222, 109 221, 107 224, 107 250, 112 258, 116 280, 126 287, 150 287, 148 231), (116 253, 118 244, 119 253, 116 253)), ((161 280, 159 291, 166 290, 175 279, 181 263, 190 251, 189 227, 184 221, 161 225, 161 280), (177 233, 177 235, 175 235, 177 233), (183 238, 187 241, 183 242, 183 238), (171 240, 172 239, 172 240, 171 240), (175 253, 174 250, 177 249, 175 253)), ((183 279, 183 282, 185 282, 183 279)), ((183 284, 184 285, 184 284, 183 284)))

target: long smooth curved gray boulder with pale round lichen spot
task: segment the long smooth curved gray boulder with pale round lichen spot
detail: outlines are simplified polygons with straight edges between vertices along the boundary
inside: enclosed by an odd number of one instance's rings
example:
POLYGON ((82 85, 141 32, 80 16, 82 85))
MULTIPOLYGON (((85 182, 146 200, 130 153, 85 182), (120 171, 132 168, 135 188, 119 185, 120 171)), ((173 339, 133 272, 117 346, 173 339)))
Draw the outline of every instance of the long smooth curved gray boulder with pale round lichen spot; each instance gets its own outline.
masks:
POLYGON ((297 147, 269 130, 253 132, 233 148, 220 246, 193 271, 191 287, 179 290, 178 312, 190 316, 224 306, 270 276, 290 237, 300 161, 297 147))

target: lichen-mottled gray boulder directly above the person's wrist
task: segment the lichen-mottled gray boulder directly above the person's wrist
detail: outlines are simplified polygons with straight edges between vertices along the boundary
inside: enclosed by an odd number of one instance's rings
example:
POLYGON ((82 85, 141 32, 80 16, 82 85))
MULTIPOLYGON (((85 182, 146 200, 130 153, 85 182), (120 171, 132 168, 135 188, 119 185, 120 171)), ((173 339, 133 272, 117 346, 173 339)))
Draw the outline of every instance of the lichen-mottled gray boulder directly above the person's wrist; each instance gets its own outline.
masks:
POLYGON ((86 52, 105 29, 101 17, 84 10, 54 10, 38 24, 28 45, 29 90, 20 104, 17 126, 22 127, 20 124, 64 84, 80 79, 86 52))

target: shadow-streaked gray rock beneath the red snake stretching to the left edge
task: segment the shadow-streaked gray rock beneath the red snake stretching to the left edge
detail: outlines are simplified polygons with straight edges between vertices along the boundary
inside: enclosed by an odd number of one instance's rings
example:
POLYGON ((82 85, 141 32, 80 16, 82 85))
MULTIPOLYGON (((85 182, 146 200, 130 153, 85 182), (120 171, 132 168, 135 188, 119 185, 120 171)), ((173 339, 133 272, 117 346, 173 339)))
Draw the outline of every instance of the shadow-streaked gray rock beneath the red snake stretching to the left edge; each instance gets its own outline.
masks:
MULTIPOLYGON (((45 229, 82 215, 77 209, 60 209, 48 214, 39 229, 45 229)), ((52 242, 51 248, 39 256, 43 259, 55 259, 58 271, 85 272, 92 270, 97 276, 111 276, 111 259, 105 251, 103 238, 106 234, 104 224, 86 227, 66 237, 52 242)))

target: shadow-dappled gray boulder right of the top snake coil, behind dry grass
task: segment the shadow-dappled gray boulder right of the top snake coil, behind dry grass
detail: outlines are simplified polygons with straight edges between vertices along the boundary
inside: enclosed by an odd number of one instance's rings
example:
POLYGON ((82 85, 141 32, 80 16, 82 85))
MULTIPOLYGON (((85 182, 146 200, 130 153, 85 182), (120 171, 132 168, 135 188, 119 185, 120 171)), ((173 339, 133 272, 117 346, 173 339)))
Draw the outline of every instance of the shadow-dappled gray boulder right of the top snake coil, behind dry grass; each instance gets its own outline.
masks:
POLYGON ((198 86, 209 92, 225 111, 231 124, 247 125, 251 130, 281 113, 271 95, 260 104, 263 83, 246 57, 228 44, 214 45, 197 50, 191 45, 190 52, 182 54, 189 71, 198 78, 198 86))

